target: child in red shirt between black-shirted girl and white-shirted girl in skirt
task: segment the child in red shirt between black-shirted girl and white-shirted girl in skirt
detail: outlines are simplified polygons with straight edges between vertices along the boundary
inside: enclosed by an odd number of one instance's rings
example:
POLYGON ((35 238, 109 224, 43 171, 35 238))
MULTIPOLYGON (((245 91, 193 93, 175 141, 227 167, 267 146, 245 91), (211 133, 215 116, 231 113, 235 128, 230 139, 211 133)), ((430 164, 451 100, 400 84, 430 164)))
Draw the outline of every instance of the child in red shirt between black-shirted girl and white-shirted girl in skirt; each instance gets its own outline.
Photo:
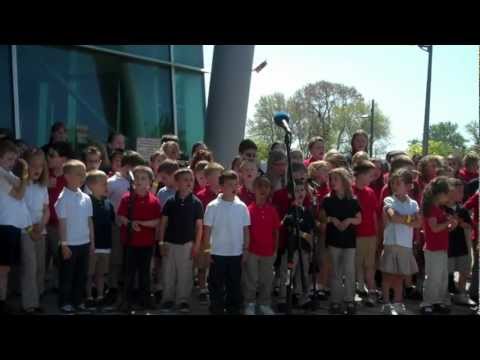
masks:
POLYGON ((362 222, 357 226, 356 273, 357 286, 361 293, 367 292, 365 304, 375 305, 375 255, 377 252, 378 200, 368 186, 373 180, 375 165, 370 161, 354 163, 355 183, 353 194, 362 209, 362 222), (367 288, 365 289, 365 283, 367 288), (366 290, 366 291, 365 291, 366 290))

